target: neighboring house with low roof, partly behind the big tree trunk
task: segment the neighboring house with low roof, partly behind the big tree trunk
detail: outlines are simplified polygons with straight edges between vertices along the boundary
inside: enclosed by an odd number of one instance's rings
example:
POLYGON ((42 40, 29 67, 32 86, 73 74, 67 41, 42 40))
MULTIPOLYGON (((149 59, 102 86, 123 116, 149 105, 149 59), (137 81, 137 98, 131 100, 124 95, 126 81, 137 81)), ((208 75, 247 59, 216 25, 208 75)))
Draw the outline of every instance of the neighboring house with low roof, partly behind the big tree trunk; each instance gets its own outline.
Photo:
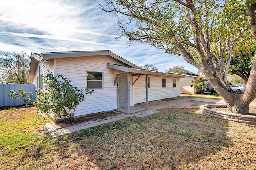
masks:
POLYGON ((192 80, 196 81, 198 78, 202 78, 199 74, 184 70, 186 74, 174 73, 174 72, 167 72, 168 74, 177 74, 180 76, 184 76, 185 78, 180 79, 180 93, 182 94, 197 94, 198 91, 194 86, 190 87, 192 84, 192 80))

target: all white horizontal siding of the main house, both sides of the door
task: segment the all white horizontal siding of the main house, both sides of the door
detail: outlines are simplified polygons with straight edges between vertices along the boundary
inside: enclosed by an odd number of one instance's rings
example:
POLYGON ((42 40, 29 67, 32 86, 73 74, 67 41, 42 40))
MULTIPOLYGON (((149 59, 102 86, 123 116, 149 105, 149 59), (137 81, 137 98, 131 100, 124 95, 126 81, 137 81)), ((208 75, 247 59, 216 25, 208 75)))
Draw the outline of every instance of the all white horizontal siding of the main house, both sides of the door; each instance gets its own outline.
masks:
MULTIPOLYGON (((116 109, 117 84, 114 86, 117 74, 113 74, 113 69, 107 68, 107 63, 123 65, 107 56, 70 57, 52 59, 48 63, 41 61, 40 74, 46 74, 47 70, 57 74, 63 74, 72 81, 72 84, 79 89, 87 86, 86 72, 102 72, 103 89, 93 89, 94 93, 85 96, 85 101, 80 102, 76 108, 75 116, 109 111, 116 109)), ((40 77, 39 64, 37 66, 34 84, 36 88, 36 78, 40 77)), ((132 86, 132 82, 138 76, 130 76, 130 104, 146 102, 145 75, 140 76, 132 86)), ((180 78, 148 76, 150 78, 149 101, 160 100, 180 96, 180 78), (162 78, 166 79, 166 88, 162 88, 162 78), (176 80, 176 87, 173 87, 172 80, 176 80)))

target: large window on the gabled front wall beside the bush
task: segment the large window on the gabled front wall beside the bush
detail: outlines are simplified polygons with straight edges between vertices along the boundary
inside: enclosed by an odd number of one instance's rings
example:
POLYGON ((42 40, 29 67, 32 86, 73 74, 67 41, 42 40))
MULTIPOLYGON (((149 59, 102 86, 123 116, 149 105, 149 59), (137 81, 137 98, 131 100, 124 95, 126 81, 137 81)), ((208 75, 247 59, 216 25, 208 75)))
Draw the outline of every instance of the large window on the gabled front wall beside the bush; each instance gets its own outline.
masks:
POLYGON ((102 89, 102 72, 87 72, 87 88, 89 89, 95 89, 95 88, 101 88, 102 89))

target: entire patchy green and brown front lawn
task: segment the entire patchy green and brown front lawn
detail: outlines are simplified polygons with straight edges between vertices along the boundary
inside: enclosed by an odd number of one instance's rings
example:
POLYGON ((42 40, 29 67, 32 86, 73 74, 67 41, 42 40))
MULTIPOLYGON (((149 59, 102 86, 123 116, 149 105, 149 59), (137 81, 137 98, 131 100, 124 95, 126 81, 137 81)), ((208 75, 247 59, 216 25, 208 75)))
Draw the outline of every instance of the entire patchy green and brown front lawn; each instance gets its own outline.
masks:
POLYGON ((2 109, 0 169, 255 169, 255 127, 161 111, 52 139, 34 107, 2 109))

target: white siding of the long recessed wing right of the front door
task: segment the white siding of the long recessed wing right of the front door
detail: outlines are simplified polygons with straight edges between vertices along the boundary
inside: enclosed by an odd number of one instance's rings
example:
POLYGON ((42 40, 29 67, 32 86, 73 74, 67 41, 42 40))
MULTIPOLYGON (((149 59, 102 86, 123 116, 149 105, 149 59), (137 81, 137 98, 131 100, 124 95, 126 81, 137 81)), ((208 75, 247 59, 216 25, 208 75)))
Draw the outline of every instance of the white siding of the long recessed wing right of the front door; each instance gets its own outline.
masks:
MULTIPOLYGON (((133 76, 133 81, 136 80, 138 76, 133 76)), ((146 86, 145 86, 145 75, 140 76, 136 81, 133 88, 133 100, 134 104, 146 102, 146 86)), ((165 98, 173 98, 180 96, 180 78, 171 78, 171 77, 161 77, 161 76, 152 76, 150 77, 150 88, 148 88, 148 100, 160 100, 165 98), (162 78, 166 79, 166 87, 162 88, 162 78), (176 87, 173 87, 172 80, 176 80, 176 87)))

